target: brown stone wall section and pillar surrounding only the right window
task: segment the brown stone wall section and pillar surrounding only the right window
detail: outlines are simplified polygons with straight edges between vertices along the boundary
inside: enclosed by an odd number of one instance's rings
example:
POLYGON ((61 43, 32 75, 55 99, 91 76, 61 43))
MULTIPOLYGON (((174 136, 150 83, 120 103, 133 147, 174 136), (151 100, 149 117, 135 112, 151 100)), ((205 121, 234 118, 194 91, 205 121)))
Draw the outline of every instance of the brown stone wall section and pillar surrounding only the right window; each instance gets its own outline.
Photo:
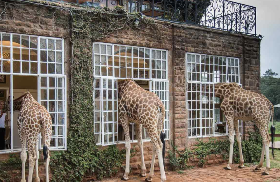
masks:
MULTIPOLYGON (((202 53, 239 58, 240 81, 243 88, 260 92, 260 39, 193 25, 173 25, 174 67, 174 138, 175 145, 188 144, 185 98, 185 54, 202 53)), ((244 136, 252 131, 252 122, 244 122, 244 136)))

